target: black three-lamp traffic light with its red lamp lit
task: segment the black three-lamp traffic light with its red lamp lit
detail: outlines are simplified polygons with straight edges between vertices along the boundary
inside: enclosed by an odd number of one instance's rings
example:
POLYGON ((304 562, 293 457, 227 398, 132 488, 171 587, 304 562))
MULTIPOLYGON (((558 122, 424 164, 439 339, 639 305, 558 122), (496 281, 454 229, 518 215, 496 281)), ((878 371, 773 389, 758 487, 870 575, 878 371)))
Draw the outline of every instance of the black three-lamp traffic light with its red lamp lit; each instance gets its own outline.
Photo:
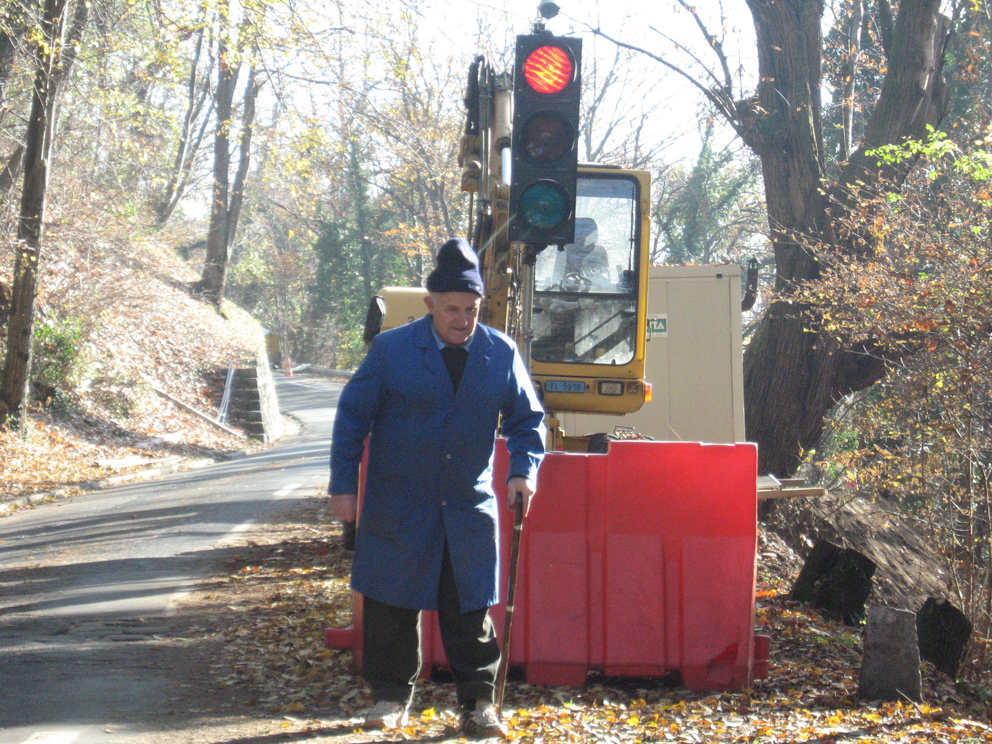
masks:
POLYGON ((574 240, 581 63, 581 39, 517 37, 510 240, 574 240))

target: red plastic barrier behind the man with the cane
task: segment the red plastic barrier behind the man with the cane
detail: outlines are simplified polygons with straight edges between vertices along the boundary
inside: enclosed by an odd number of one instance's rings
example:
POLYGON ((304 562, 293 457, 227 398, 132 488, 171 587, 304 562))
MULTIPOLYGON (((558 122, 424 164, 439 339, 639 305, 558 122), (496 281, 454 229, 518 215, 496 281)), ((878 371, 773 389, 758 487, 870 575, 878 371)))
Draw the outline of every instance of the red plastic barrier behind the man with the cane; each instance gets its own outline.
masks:
MULTIPOLYGON (((502 442, 496 452, 502 507, 502 442)), ((762 671, 753 669, 756 482, 753 444, 618 441, 606 455, 550 452, 524 525, 510 663, 542 684, 580 685, 597 669, 680 672, 691 689, 746 686, 762 671)), ((501 517, 505 589, 513 521, 501 517)), ((491 612, 502 629, 502 605, 491 612)), ((428 675, 446 660, 434 613, 421 625, 428 675)), ((360 651, 360 635, 328 630, 325 642, 360 651)), ((767 672, 767 651, 757 661, 767 672)))

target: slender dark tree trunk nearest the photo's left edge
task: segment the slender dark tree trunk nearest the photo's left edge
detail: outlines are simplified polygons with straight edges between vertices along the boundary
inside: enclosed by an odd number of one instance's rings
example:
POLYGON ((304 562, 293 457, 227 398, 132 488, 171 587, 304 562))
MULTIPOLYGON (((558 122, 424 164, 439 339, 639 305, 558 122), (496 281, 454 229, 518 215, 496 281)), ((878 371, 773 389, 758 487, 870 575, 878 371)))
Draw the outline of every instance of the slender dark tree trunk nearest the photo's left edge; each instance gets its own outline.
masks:
POLYGON ((46 0, 41 22, 44 43, 36 50, 35 90, 25 136, 24 186, 14 254, 7 357, 0 379, 0 403, 23 429, 31 373, 38 267, 41 260, 45 196, 52 162, 52 130, 63 45, 66 0, 46 0))

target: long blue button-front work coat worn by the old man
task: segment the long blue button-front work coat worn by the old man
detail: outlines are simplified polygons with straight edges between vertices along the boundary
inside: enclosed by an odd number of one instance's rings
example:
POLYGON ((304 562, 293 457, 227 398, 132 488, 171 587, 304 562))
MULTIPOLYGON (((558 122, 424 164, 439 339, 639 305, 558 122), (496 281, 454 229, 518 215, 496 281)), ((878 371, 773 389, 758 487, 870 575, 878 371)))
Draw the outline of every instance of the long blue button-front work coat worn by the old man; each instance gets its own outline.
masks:
POLYGON ((509 475, 533 480, 545 452, 544 410, 516 344, 481 324, 456 394, 432 323, 426 315, 380 333, 344 386, 329 493, 358 492, 369 435, 352 588, 394 606, 435 610, 446 541, 461 611, 470 612, 499 601, 492 485, 499 415, 509 475))

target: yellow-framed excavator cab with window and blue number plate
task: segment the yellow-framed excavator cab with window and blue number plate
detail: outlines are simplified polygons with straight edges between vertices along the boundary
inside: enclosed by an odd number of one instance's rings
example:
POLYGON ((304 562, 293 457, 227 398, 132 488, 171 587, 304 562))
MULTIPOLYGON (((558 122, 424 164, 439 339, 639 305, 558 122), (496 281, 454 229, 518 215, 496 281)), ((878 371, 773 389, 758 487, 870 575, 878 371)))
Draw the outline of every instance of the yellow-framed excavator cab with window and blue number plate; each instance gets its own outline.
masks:
POLYGON ((580 166, 575 241, 537 256, 531 372, 549 411, 644 403, 649 194, 645 172, 580 166))

